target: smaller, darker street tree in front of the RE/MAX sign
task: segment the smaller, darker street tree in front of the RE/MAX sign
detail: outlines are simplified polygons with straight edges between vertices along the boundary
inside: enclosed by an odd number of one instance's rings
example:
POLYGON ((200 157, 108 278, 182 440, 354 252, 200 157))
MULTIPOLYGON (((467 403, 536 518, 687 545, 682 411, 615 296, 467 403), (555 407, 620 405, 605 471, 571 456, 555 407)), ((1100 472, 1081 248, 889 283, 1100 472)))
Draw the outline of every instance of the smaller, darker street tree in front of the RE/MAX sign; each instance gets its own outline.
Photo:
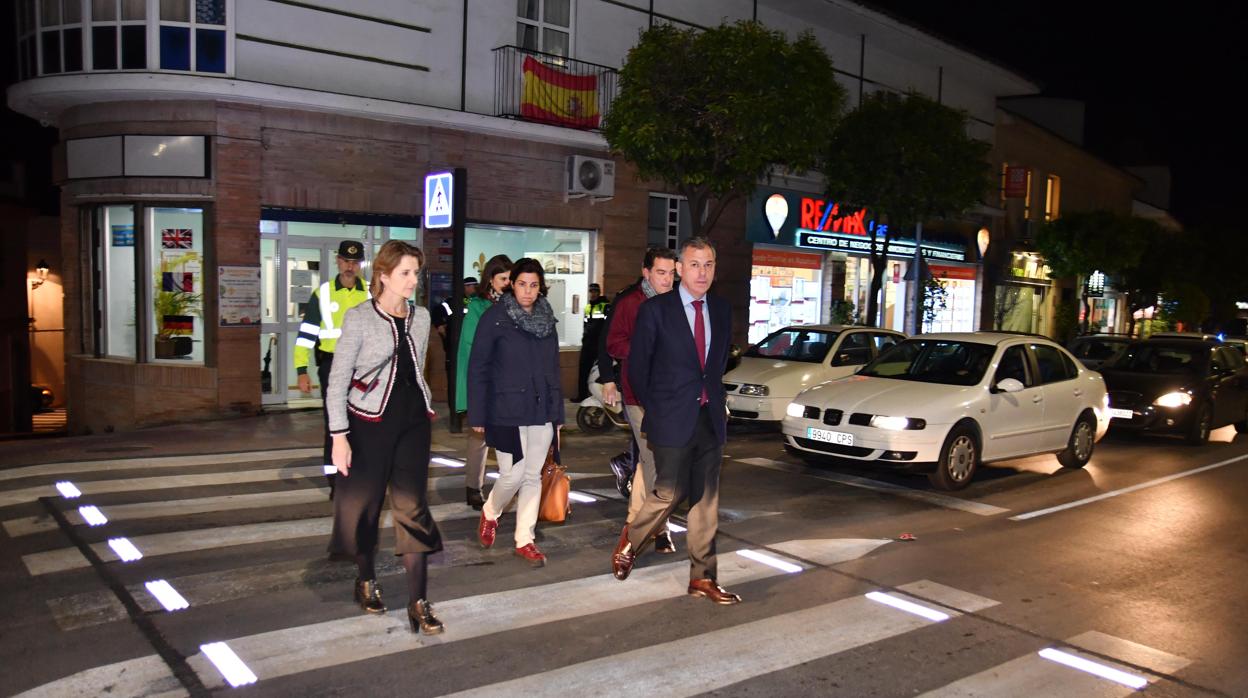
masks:
POLYGON ((916 224, 977 204, 988 187, 988 150, 967 135, 966 112, 919 94, 867 95, 841 120, 824 159, 827 196, 867 207, 877 222, 887 224, 882 232, 880 225, 867 231, 869 325, 879 322, 890 241, 916 224))

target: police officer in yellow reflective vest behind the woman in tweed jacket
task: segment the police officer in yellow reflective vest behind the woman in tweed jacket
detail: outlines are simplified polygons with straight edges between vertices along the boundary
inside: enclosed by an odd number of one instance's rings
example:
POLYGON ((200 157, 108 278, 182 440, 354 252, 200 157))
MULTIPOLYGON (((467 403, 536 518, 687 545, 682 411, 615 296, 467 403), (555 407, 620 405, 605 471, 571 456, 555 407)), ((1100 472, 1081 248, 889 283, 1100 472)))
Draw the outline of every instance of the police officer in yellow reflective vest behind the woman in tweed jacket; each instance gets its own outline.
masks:
MULTIPOLYGON (((329 367, 333 365, 333 347, 342 335, 342 317, 352 307, 369 298, 368 286, 359 275, 359 262, 364 258, 364 245, 344 240, 338 245, 338 276, 326 281, 312 292, 298 338, 295 340, 295 372, 298 373, 300 392, 312 392, 308 377, 308 360, 316 353, 316 373, 321 381, 321 400, 329 386, 329 367)), ((329 425, 324 428, 324 477, 329 481, 329 498, 333 499, 333 442, 329 425)))

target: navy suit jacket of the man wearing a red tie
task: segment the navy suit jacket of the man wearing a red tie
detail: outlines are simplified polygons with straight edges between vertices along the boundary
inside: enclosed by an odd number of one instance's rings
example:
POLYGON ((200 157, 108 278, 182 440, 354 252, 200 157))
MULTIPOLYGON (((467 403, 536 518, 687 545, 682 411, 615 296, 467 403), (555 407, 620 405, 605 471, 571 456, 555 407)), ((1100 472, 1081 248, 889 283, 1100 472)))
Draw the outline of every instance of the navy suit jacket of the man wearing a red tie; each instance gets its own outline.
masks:
POLYGON ((699 398, 706 391, 710 421, 723 445, 728 440, 728 413, 724 368, 733 333, 733 313, 728 301, 706 293, 705 311, 710 315, 710 347, 703 370, 694 347, 680 293, 673 290, 641 303, 633 327, 628 355, 628 380, 645 410, 641 431, 655 446, 680 447, 689 443, 698 425, 699 398))

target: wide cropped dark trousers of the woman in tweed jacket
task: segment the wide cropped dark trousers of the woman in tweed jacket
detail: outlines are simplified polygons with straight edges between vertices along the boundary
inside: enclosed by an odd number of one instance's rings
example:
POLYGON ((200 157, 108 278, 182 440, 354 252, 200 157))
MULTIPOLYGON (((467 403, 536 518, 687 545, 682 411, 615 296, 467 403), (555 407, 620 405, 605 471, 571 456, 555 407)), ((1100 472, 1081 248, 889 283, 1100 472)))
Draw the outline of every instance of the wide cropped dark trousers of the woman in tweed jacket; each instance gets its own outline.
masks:
POLYGON ((399 381, 381 421, 349 416, 351 469, 338 477, 333 497, 329 554, 353 558, 377 548, 386 489, 394 519, 394 554, 442 549, 442 533, 429 513, 429 415, 417 386, 399 381))

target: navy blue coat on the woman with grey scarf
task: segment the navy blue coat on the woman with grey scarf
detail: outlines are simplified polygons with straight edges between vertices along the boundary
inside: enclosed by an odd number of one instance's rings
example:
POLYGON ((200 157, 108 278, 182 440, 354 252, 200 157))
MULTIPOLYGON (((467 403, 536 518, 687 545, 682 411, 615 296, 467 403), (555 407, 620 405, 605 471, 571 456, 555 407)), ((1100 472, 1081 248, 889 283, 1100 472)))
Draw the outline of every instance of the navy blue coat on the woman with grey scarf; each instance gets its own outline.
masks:
POLYGON ((482 316, 468 357, 468 426, 563 423, 557 332, 538 338, 494 303, 482 316))

